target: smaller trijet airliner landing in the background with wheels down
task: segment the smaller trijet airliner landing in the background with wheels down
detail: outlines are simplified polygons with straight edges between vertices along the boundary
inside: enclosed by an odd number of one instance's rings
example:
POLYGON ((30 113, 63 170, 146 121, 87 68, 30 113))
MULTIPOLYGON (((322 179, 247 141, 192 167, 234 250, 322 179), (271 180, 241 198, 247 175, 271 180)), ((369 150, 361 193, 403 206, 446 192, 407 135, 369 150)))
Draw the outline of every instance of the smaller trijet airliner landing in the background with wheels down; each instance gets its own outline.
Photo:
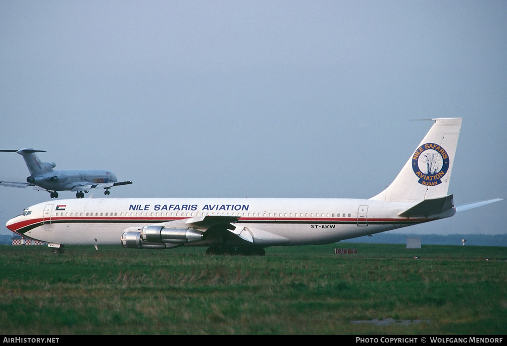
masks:
POLYGON ((44 150, 33 150, 32 148, 20 150, 0 150, 0 152, 18 153, 23 156, 30 176, 26 183, 15 183, 0 181, 0 185, 18 188, 34 186, 34 190, 48 191, 51 198, 58 198, 57 191, 76 191, 77 198, 83 198, 85 193, 91 189, 105 189, 104 195, 110 194, 109 189, 113 186, 132 184, 132 182, 118 182, 116 175, 103 169, 65 169, 53 170, 54 162, 41 162, 35 153, 45 152, 44 150))

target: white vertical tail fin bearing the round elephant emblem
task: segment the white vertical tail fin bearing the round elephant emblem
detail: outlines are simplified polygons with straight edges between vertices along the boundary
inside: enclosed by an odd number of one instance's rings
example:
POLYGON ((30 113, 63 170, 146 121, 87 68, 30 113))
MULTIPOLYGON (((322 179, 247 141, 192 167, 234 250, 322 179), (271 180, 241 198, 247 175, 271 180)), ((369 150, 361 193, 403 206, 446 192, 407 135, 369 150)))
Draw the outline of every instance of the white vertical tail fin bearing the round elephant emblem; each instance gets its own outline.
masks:
POLYGON ((396 179, 371 199, 420 202, 447 196, 462 119, 431 120, 435 123, 396 179))

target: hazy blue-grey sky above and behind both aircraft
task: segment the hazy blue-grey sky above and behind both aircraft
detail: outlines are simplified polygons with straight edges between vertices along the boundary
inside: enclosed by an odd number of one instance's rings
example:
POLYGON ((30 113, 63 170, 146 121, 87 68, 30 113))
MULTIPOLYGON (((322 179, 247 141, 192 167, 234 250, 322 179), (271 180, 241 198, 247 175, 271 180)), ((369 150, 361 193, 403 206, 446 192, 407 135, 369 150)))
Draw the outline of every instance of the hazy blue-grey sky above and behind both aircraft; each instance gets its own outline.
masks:
MULTIPOLYGON (((133 181, 108 198, 370 198, 432 124, 409 119, 463 117, 449 193, 506 198, 506 37, 502 1, 6 0, 0 149, 133 181)), ((47 200, 0 187, 0 233, 47 200)), ((506 205, 402 231, 507 233, 506 205)))

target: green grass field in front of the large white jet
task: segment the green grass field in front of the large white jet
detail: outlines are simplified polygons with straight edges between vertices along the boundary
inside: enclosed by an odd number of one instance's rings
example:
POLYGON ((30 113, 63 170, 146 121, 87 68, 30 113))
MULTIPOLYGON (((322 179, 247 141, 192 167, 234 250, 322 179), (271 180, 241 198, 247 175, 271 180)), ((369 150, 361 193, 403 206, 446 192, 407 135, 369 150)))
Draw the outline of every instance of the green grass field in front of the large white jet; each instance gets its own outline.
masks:
POLYGON ((0 282, 0 333, 11 335, 507 332, 505 247, 347 243, 225 257, 1 246, 0 282))

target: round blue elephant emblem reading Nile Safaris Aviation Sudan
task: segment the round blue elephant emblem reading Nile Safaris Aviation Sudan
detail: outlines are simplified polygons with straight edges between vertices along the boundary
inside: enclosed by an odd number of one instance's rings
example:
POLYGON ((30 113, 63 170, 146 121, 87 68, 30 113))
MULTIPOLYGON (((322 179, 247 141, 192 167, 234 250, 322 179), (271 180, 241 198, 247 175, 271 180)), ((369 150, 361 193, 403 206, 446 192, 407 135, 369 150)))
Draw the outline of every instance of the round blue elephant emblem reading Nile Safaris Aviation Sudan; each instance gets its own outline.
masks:
POLYGON ((426 143, 421 145, 412 156, 412 169, 419 184, 436 186, 442 183, 441 178, 449 169, 449 155, 438 144, 426 143))

